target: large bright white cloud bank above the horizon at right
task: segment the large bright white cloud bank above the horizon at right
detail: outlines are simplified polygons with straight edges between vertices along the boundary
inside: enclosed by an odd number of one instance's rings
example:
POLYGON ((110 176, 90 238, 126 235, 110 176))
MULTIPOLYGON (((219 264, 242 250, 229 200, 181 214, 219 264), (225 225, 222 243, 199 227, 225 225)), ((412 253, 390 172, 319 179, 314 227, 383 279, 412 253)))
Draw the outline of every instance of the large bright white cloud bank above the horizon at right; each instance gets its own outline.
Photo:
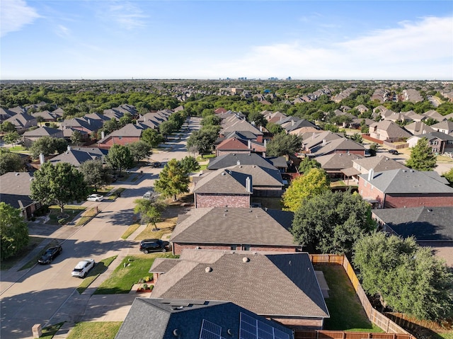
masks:
POLYGON ((256 46, 241 59, 218 64, 213 73, 223 69, 230 73, 222 76, 250 78, 453 79, 452 37, 453 17, 422 18, 317 48, 302 41, 256 46))

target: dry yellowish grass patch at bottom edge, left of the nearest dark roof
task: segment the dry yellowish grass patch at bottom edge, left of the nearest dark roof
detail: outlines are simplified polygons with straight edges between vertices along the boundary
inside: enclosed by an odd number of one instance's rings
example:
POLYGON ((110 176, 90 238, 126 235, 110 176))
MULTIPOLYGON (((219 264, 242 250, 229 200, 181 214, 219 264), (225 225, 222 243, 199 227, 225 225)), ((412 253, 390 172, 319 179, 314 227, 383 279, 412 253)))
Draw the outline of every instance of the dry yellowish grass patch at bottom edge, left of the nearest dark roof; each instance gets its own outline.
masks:
MULTIPOLYGON (((122 321, 86 321, 76 323, 71 329, 67 339, 114 339, 120 331, 122 321)), ((42 338, 42 337, 41 337, 42 338)))

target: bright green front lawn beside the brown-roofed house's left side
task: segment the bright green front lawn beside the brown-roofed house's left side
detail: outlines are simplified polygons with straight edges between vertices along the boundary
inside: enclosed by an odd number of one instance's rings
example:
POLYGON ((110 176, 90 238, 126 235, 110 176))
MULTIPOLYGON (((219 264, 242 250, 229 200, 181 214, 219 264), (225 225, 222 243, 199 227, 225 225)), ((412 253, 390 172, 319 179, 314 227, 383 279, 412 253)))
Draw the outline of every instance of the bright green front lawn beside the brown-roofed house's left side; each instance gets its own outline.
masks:
MULTIPOLYGON (((155 258, 176 258, 168 253, 128 255, 94 294, 126 294, 143 277, 152 277, 149 268, 155 258)), ((75 338, 75 337, 74 337, 75 338)))

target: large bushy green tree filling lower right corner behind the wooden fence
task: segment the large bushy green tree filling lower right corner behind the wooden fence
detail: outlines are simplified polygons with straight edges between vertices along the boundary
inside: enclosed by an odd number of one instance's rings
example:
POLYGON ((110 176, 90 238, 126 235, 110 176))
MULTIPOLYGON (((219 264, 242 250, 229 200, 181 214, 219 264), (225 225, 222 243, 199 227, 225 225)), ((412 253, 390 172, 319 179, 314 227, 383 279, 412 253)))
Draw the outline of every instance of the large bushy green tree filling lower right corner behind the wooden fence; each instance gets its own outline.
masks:
POLYGON ((355 243, 352 263, 363 289, 383 307, 420 319, 453 316, 453 274, 415 239, 383 232, 364 236, 355 243))

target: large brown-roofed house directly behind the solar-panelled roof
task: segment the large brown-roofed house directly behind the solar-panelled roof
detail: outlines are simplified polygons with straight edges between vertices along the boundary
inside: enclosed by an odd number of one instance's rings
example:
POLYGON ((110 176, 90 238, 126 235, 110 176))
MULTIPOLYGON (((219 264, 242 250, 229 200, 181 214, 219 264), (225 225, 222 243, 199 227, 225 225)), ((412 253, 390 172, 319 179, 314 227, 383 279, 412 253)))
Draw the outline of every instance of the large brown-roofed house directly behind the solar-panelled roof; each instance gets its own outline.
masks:
POLYGON ((185 249, 149 272, 155 298, 231 301, 288 328, 321 329, 329 317, 307 253, 185 249))

